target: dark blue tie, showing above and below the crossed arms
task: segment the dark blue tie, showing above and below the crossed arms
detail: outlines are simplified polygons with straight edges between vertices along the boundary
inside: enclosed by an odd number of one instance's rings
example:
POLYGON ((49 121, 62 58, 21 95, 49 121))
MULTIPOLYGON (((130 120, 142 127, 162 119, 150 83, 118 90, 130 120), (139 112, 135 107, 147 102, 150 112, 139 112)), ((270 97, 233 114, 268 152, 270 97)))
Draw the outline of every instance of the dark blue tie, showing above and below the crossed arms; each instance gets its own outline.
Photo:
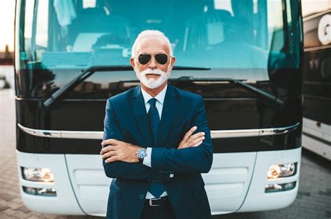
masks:
MULTIPOLYGON (((149 120, 149 127, 151 127, 152 140, 154 144, 151 147, 154 147, 157 143, 157 134, 159 131, 160 117, 159 117, 159 112, 157 111, 157 108, 155 106, 156 99, 155 98, 149 99, 148 102, 151 108, 149 108, 147 117, 149 120)), ((151 184, 149 185, 149 193, 152 193, 154 197, 160 197, 160 195, 162 195, 164 191, 165 188, 163 187, 163 184, 159 182, 151 182, 151 184)))

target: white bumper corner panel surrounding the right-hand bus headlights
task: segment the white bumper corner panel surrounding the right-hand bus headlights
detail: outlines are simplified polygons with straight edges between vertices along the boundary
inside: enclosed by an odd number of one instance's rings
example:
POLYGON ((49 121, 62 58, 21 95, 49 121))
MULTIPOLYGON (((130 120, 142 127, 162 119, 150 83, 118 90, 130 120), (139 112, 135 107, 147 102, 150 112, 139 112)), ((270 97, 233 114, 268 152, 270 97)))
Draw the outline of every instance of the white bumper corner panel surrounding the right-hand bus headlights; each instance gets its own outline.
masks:
POLYGON ((282 209, 292 204, 299 187, 300 163, 301 147, 281 151, 258 152, 253 178, 244 203, 238 212, 282 209), (280 179, 267 179, 267 171, 271 165, 284 163, 297 163, 296 174, 280 179), (265 193, 266 185, 291 182, 295 182, 295 187, 290 190, 265 193))

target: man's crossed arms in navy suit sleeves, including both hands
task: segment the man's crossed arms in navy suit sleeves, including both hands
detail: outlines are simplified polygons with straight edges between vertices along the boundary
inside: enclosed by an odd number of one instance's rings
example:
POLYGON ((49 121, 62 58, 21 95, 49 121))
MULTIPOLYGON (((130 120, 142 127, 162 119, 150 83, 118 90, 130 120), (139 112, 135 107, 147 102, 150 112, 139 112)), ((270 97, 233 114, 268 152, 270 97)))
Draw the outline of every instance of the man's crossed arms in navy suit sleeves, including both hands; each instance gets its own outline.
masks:
POLYGON ((117 115, 108 99, 104 140, 101 143, 105 174, 111 178, 167 181, 170 173, 208 172, 212 165, 212 140, 201 97, 194 109, 192 124, 194 127, 187 131, 176 148, 169 149, 162 145, 152 148, 152 167, 149 168, 138 163, 135 156, 135 152, 141 147, 124 142, 117 115), (194 131, 199 132, 193 134, 194 131))

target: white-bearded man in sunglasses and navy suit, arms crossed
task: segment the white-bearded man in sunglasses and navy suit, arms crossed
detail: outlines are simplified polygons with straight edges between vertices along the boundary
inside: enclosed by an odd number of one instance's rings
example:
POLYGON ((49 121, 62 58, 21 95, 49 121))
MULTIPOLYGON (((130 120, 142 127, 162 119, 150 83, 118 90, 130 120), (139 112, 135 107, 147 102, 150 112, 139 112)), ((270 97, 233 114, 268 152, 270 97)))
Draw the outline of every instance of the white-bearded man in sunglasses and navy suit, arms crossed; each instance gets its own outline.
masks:
POLYGON ((175 57, 160 31, 140 33, 131 53, 140 86, 106 104, 107 218, 211 218, 200 175, 212 165, 203 99, 168 84, 175 57))

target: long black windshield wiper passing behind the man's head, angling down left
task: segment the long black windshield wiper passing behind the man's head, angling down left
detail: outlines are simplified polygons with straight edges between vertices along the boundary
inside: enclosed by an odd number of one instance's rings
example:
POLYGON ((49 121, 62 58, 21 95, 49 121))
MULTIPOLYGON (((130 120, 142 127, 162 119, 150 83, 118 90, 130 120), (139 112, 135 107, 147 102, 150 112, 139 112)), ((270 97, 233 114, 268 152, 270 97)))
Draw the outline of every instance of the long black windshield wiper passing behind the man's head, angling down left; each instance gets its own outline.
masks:
MULTIPOLYGON (((172 70, 210 70, 207 67, 185 67, 185 66, 174 66, 172 70)), ((54 92, 52 96, 43 102, 46 108, 50 108, 54 105, 61 97, 63 97, 68 91, 72 90, 80 83, 85 81, 89 76, 95 72, 118 72, 118 71, 133 71, 131 65, 110 65, 110 66, 91 66, 82 73, 78 74, 73 80, 69 81, 65 86, 54 92)))

